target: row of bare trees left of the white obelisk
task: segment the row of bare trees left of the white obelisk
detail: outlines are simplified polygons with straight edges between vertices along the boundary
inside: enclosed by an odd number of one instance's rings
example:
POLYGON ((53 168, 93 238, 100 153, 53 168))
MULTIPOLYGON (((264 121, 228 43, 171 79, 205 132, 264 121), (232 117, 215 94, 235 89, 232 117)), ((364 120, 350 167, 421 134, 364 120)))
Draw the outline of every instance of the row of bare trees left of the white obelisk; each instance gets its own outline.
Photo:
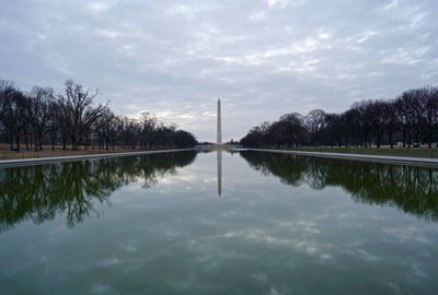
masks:
POLYGON ((175 123, 159 122, 142 113, 140 118, 116 116, 108 104, 94 104, 97 90, 85 88, 72 80, 64 91, 35 86, 22 92, 13 82, 0 80, 0 142, 11 151, 84 149, 192 148, 197 141, 175 123))

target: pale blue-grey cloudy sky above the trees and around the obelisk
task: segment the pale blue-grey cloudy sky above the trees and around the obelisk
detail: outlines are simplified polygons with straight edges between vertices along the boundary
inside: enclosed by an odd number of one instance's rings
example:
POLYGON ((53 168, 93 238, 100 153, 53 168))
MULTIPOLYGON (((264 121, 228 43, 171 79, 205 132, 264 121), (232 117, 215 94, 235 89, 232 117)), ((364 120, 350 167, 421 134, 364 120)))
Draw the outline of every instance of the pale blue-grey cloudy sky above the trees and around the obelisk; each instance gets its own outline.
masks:
POLYGON ((155 114, 199 141, 438 83, 436 0, 11 0, 0 79, 67 79, 115 114, 155 114))

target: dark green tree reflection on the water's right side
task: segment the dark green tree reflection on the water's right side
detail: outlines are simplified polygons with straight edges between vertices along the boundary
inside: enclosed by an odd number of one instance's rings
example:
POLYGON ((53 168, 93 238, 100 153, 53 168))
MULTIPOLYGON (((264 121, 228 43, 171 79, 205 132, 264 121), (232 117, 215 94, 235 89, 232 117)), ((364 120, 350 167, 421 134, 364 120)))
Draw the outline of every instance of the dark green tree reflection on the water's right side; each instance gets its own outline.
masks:
POLYGON ((245 151, 253 168, 281 182, 311 188, 341 186, 366 204, 394 205, 438 222, 438 169, 245 151))

